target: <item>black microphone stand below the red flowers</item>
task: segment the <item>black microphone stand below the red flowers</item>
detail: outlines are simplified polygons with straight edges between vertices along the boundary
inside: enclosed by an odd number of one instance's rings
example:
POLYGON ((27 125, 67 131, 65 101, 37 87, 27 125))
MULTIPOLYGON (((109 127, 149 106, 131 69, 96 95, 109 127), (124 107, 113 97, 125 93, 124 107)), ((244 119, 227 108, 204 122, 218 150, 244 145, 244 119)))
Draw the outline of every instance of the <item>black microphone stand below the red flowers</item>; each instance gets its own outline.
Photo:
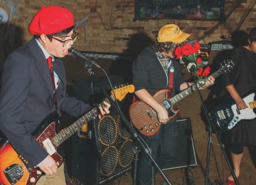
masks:
MULTIPOLYGON (((189 71, 193 77, 193 80, 196 84, 196 78, 195 78, 195 66, 192 65, 191 68, 189 68, 189 71)), ((206 156, 206 167, 205 167, 205 185, 207 185, 207 182, 208 182, 208 179, 209 179, 209 166, 210 166, 210 155, 211 155, 211 144, 212 144, 212 127, 213 126, 213 129, 216 133, 216 128, 215 128, 215 125, 214 125, 214 118, 212 117, 212 114, 211 112, 209 112, 207 110, 207 107, 204 103, 204 99, 202 98, 202 94, 200 93, 199 89, 198 89, 198 85, 196 84, 196 90, 198 92, 198 95, 200 97, 200 100, 202 102, 202 107, 204 108, 204 112, 205 112, 205 115, 207 117, 207 123, 208 123, 208 141, 207 141, 207 156, 206 156)), ((223 147, 223 145, 221 144, 221 140, 220 140, 220 137, 218 136, 218 134, 216 134, 216 137, 218 139, 218 143, 220 144, 220 147, 221 147, 221 151, 222 153, 224 154, 225 156, 225 159, 228 163, 228 167, 230 168, 230 172, 232 174, 232 177, 234 178, 234 181, 236 182, 236 185, 239 185, 239 182, 237 180, 237 177, 236 177, 236 174, 234 173, 234 170, 232 169, 232 166, 230 165, 230 162, 228 161, 228 158, 227 158, 227 154, 225 152, 225 149, 223 147)), ((211 182, 210 182, 211 184, 211 182)))

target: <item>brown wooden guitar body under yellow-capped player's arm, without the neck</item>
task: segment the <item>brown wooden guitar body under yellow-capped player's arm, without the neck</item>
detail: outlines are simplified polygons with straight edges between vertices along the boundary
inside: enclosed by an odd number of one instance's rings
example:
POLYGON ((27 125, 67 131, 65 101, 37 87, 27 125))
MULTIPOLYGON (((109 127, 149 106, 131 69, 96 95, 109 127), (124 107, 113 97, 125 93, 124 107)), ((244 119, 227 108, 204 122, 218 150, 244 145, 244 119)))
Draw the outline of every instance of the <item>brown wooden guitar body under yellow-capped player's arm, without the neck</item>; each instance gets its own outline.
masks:
MULTIPOLYGON (((174 110, 172 103, 166 98, 166 93, 168 92, 170 92, 170 90, 163 89, 157 91, 153 97, 157 103, 166 108, 169 120, 171 120, 179 114, 179 110, 174 110)), ((129 108, 129 115, 132 124, 143 135, 155 135, 161 126, 161 122, 157 119, 156 111, 142 101, 134 101, 134 103, 132 103, 129 108)))

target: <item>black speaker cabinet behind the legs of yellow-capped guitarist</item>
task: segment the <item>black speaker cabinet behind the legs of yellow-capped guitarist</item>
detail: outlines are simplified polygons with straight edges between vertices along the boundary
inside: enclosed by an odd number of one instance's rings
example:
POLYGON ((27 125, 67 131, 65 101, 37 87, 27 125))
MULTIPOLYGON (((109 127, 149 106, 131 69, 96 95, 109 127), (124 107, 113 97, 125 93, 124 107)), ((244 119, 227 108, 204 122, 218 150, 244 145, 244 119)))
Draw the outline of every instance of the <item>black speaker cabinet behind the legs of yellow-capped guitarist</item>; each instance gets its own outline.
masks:
POLYGON ((162 170, 173 170, 197 165, 191 122, 189 118, 179 119, 179 134, 175 157, 162 170))

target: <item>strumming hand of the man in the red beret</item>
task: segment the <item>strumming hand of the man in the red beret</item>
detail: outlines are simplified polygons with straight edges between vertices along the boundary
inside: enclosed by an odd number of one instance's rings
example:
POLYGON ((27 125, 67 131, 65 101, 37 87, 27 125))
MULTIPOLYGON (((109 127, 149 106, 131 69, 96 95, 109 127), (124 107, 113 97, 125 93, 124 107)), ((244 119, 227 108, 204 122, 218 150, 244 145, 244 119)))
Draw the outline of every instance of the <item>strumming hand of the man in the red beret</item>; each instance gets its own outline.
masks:
POLYGON ((52 175, 57 172, 56 161, 51 157, 47 156, 38 166, 47 175, 52 175))

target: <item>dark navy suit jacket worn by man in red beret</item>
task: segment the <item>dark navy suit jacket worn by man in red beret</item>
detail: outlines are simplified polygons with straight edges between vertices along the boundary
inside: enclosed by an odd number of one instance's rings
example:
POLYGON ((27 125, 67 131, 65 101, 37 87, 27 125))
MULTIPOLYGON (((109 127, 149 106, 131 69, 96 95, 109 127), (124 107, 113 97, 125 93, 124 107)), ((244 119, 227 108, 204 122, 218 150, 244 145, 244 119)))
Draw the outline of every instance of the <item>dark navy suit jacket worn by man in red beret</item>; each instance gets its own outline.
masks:
MULTIPOLYGON (((57 91, 60 109, 76 117, 86 112, 89 105, 66 94, 61 59, 54 61, 53 69, 61 80, 57 91)), ((29 166, 38 165, 47 156, 30 133, 54 112, 52 98, 52 80, 44 53, 32 39, 4 62, 0 96, 0 129, 29 166)))

